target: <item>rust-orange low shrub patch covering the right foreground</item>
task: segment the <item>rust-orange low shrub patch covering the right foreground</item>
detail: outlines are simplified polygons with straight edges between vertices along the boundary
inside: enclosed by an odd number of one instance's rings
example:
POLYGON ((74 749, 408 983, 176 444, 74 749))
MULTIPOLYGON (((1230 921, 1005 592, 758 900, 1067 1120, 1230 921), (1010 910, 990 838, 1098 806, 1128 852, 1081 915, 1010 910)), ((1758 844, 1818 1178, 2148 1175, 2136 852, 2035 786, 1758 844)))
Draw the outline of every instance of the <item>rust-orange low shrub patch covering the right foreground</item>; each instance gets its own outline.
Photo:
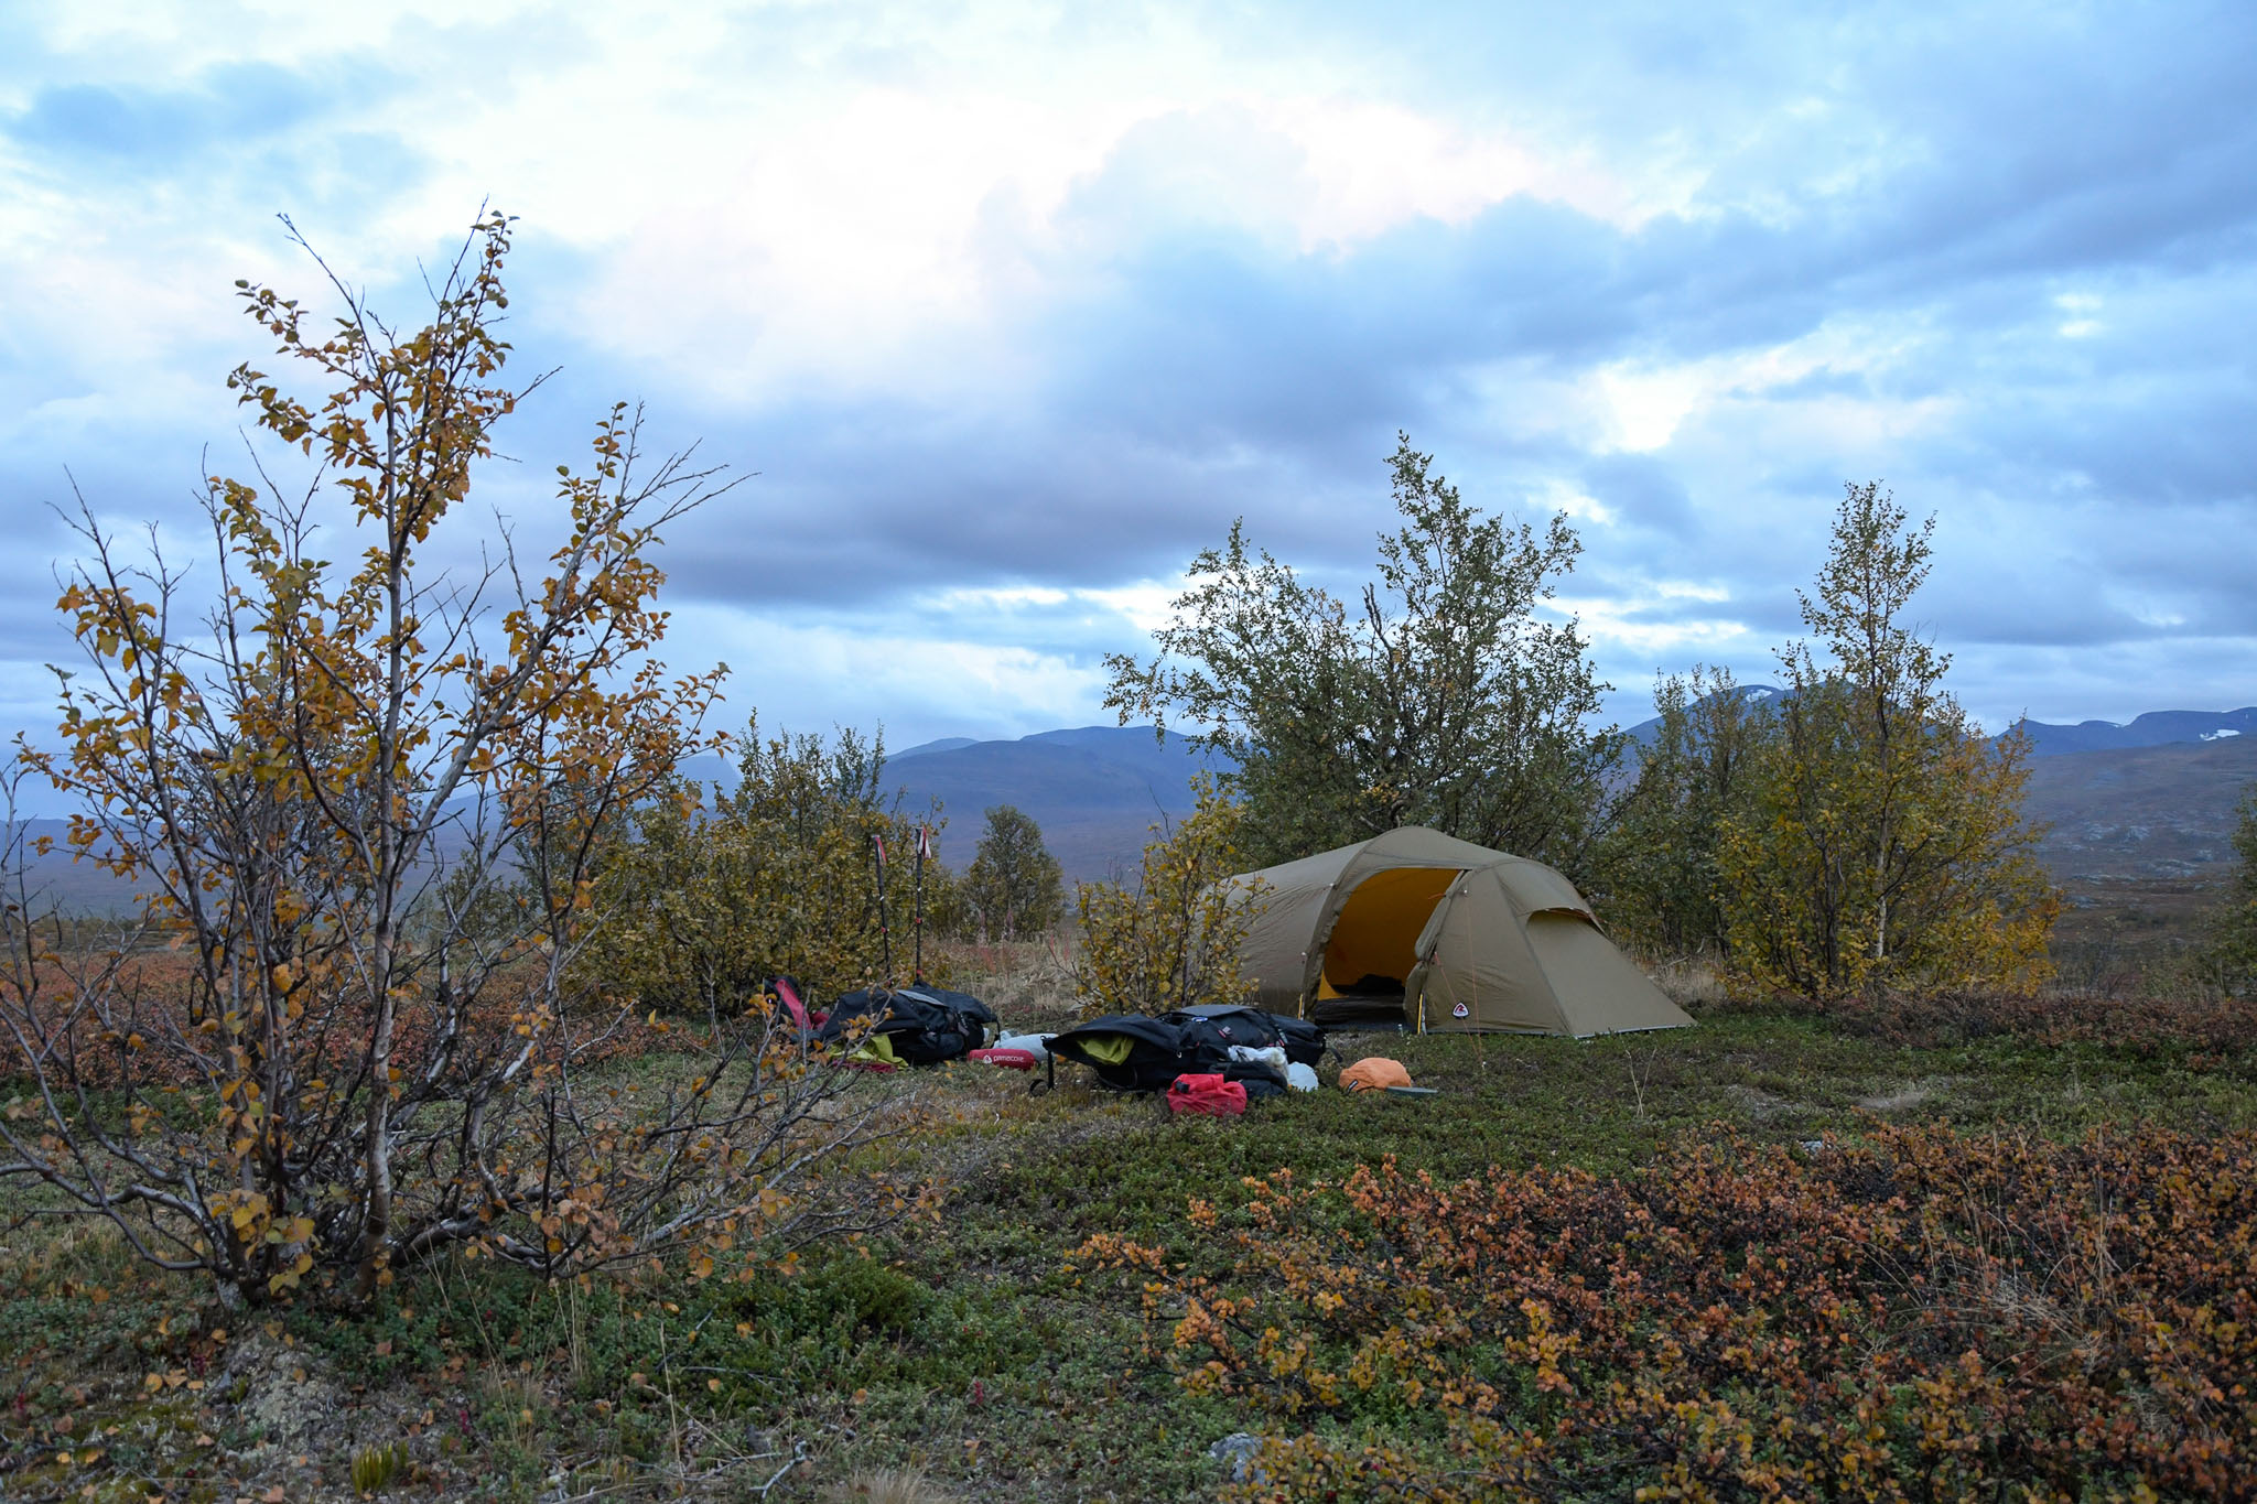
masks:
POLYGON ((1729 1132, 1623 1179, 1393 1159, 1099 1236, 1239 1499, 2257 1497, 2257 1136, 1729 1132))

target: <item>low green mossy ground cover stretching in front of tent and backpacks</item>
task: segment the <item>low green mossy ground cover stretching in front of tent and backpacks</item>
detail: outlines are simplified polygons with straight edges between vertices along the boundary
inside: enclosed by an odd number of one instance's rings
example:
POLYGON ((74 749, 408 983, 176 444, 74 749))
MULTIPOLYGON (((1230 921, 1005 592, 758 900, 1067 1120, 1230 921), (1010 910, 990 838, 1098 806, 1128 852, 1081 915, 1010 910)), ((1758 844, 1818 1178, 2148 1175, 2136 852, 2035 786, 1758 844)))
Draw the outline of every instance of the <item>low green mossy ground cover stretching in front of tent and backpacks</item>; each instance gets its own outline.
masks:
MULTIPOLYGON (((765 1497, 803 1499, 887 1466, 923 1468, 941 1497, 1203 1497, 1219 1479, 1207 1445, 1257 1418, 1183 1394, 1144 1353, 1135 1290, 1077 1272, 1072 1249, 1119 1231, 1212 1256, 1185 1204, 1230 1204, 1246 1175, 1334 1179, 1381 1154, 1444 1177, 1492 1164, 1621 1173, 1718 1125, 1817 1139, 1876 1116, 2049 1136, 2257 1125, 2243 1053, 1916 1049, 1799 1015, 1591 1042, 1361 1035, 1341 1049, 1393 1055, 1440 1096, 1327 1085, 1244 1121, 1169 1118, 1153 1098, 1065 1085, 1077 1071, 1029 1096, 1020 1076, 948 1067, 912 1082, 941 1125, 892 1152, 946 1179, 941 1215, 862 1249, 817 1249, 799 1274, 646 1272, 582 1290, 454 1263, 404 1274, 370 1317, 257 1317, 255 1339, 284 1364, 302 1355, 341 1409, 293 1436, 266 1434, 284 1423, 257 1409, 253 1378, 228 1378, 208 1342, 219 1317, 192 1288, 140 1274, 102 1236, 56 1249, 18 1227, 0 1276, 0 1497, 124 1484, 142 1490, 131 1497, 237 1497, 253 1484, 350 1497, 350 1452, 395 1439, 418 1459, 393 1484, 402 1497, 763 1497, 774 1479, 765 1497), (151 1373, 192 1366, 210 1384, 147 1394, 151 1373), (201 1405, 196 1425, 176 1416, 183 1394, 201 1405), (99 1457, 79 1461, 86 1450, 99 1457)), ((1341 1064, 1327 1060, 1327 1082, 1341 1064)))

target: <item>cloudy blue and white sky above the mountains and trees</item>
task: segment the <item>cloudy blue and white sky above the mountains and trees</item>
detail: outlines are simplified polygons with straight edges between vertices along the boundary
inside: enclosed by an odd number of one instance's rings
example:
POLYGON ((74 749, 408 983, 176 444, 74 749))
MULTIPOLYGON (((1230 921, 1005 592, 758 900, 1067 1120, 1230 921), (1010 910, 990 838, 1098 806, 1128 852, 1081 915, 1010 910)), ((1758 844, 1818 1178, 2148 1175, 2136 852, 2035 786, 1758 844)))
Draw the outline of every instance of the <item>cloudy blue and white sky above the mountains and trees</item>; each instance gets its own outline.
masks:
POLYGON ((181 528, 266 354, 519 216, 508 431, 756 471, 666 555, 734 713, 1101 719, 1232 516, 1352 582, 1397 431, 1578 519, 1560 607, 1765 676, 1844 480, 1934 512, 1993 726, 2257 701, 2257 9, 0 5, 0 724, 52 726, 65 467, 181 528), (474 14, 476 20, 463 20, 474 14))

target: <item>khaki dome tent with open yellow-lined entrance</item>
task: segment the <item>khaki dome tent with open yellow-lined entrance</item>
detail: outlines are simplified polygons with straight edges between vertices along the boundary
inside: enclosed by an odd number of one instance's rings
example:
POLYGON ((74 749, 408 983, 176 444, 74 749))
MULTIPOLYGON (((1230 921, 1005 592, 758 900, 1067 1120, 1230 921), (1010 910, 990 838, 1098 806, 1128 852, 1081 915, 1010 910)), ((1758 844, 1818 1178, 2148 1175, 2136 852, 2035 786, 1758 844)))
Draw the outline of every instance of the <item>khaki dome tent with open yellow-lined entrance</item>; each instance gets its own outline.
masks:
POLYGON ((1578 1037, 1693 1021, 1542 861, 1402 825, 1230 882, 1257 879, 1241 958, 1271 1012, 1578 1037))

